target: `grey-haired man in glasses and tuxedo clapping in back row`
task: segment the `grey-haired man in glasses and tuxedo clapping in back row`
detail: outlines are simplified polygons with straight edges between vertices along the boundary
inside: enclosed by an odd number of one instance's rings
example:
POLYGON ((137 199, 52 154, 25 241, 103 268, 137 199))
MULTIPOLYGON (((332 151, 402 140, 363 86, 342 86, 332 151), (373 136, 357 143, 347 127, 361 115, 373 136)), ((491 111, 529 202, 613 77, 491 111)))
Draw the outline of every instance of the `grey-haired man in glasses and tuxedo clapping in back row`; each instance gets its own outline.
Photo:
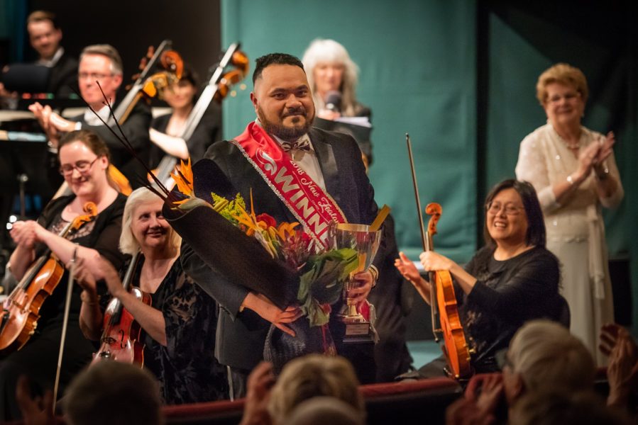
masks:
MULTIPOLYGON (((79 58, 77 74, 79 80, 79 92, 82 98, 105 121, 110 118, 109 108, 104 105, 104 97, 117 106, 117 91, 122 84, 122 60, 117 50, 111 45, 90 45, 84 47, 79 58), (98 85, 99 83, 99 85, 98 85), (101 87, 101 91, 100 91, 101 87), (104 91, 104 95, 102 94, 104 91)), ((101 137, 111 152, 111 164, 126 176, 133 188, 141 186, 145 178, 143 166, 131 157, 118 137, 113 135, 109 128, 101 123, 99 118, 87 108, 82 115, 67 120, 54 113, 49 106, 42 106, 35 102, 29 106, 35 118, 45 130, 49 145, 57 151, 57 141, 60 134, 72 130, 92 130, 101 137)), ((150 108, 143 102, 138 102, 128 115, 121 129, 126 140, 136 150, 138 157, 148 162, 150 152, 150 140, 148 128, 152 120, 150 108)), ((119 134, 115 125, 112 128, 119 134)))

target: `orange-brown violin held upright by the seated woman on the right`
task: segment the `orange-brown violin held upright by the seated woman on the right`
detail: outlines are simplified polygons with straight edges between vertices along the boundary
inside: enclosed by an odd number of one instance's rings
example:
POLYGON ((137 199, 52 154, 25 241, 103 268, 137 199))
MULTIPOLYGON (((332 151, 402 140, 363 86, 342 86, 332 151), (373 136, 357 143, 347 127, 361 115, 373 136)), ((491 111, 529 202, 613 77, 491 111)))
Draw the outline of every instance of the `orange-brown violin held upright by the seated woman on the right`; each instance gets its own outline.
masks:
MULTIPOLYGON (((425 213, 431 215, 427 225, 427 249, 425 250, 433 251, 434 243, 432 240, 436 234, 436 223, 441 218, 441 205, 429 203, 425 207, 425 213)), ((443 351, 449 368, 446 371, 456 379, 467 378, 472 373, 470 351, 463 333, 461 318, 458 316, 452 276, 447 270, 430 271, 429 281, 431 307, 433 310, 438 309, 439 312, 440 327, 435 329, 435 332, 443 334, 443 351)))

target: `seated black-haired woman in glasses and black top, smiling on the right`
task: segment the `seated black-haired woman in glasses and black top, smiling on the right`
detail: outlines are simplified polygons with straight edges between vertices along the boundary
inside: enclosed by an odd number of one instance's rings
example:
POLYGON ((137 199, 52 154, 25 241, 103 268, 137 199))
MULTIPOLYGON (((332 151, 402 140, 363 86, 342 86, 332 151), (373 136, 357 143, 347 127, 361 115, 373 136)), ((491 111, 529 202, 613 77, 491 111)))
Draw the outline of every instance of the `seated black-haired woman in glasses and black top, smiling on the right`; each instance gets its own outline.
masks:
MULTIPOLYGON (((519 327, 530 319, 559 319, 559 263, 545 249, 545 225, 534 187, 523 181, 498 183, 485 199, 485 243, 465 265, 436 251, 420 259, 425 271, 449 271, 461 324, 477 373, 498 370, 495 354, 507 348, 519 327)), ((430 285, 405 254, 395 266, 430 302, 430 285)), ((441 375, 442 359, 419 370, 423 377, 441 375)))

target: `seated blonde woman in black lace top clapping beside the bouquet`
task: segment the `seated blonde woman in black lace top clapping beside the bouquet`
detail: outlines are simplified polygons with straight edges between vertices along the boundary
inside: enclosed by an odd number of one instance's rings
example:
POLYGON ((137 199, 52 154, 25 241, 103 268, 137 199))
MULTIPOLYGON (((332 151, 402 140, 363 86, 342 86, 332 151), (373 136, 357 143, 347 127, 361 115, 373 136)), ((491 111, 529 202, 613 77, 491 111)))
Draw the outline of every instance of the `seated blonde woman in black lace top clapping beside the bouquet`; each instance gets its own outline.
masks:
POLYGON ((166 404, 223 398, 226 380, 213 357, 217 323, 216 302, 183 271, 181 238, 162 214, 163 201, 147 188, 131 193, 124 208, 120 250, 140 251, 132 284, 150 294, 146 305, 124 290, 115 268, 105 261, 82 264, 77 278, 88 301, 82 305, 80 327, 89 339, 99 339, 103 308, 95 280, 104 279, 144 331, 144 365, 160 381, 166 404))

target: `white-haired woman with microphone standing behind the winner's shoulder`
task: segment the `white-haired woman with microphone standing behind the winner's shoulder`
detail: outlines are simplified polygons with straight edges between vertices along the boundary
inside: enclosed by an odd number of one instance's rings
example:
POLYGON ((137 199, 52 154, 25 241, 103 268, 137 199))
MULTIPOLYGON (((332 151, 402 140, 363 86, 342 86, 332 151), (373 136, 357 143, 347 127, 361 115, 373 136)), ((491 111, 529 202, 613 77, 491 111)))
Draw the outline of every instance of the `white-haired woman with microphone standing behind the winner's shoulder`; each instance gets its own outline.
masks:
MULTIPOLYGON (((372 111, 357 101, 359 67, 351 60, 346 47, 335 40, 318 38, 310 43, 302 62, 312 90, 317 118, 336 120, 341 117, 366 117, 370 121, 372 111)), ((342 131, 343 128, 329 130, 342 131)), ((366 167, 372 164, 370 137, 360 140, 360 135, 351 135, 363 152, 366 167)))

